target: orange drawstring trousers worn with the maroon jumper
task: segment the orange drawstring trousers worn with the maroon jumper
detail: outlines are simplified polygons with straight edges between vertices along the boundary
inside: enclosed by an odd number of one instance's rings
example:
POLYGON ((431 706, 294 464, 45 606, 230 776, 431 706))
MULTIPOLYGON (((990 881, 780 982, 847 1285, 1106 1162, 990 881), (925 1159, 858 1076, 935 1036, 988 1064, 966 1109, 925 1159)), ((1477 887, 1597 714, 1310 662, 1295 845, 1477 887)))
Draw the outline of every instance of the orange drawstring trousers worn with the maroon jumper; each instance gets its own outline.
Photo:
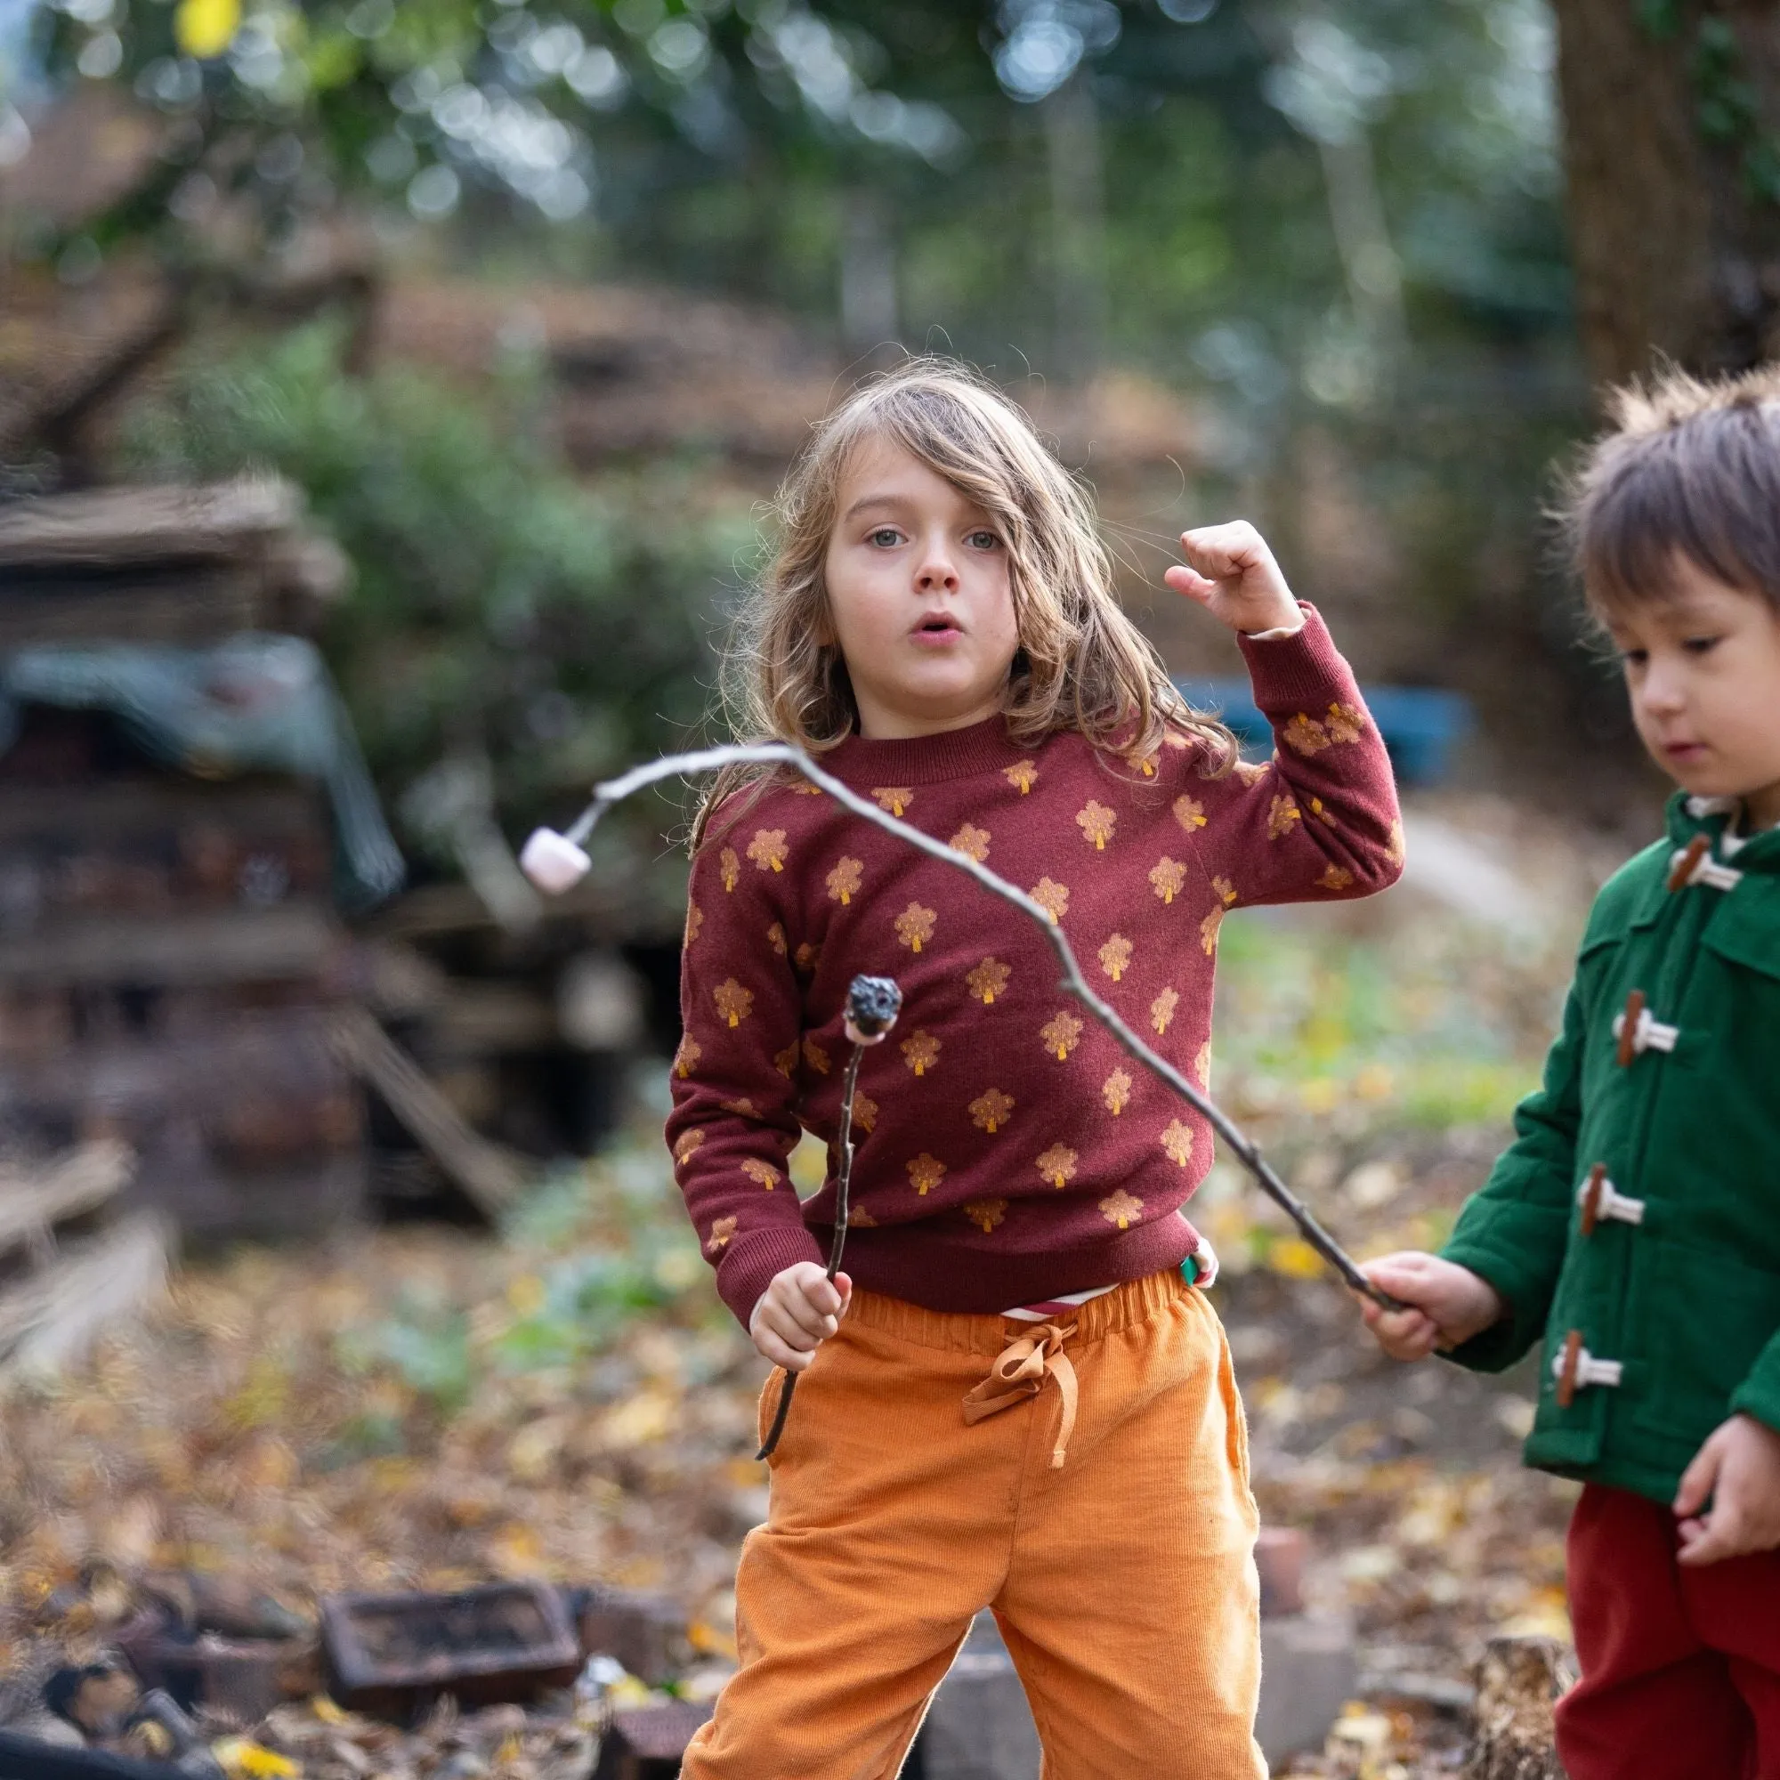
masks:
POLYGON ((742 1666, 685 1780, 888 1780, 981 1607, 1045 1780, 1266 1775, 1255 1499, 1218 1315, 1159 1273, 1057 1330, 854 1292, 769 1461, 735 1582, 742 1666), (984 1392, 997 1360, 1025 1376, 984 1392), (972 1392, 997 1399, 977 1420, 972 1392))

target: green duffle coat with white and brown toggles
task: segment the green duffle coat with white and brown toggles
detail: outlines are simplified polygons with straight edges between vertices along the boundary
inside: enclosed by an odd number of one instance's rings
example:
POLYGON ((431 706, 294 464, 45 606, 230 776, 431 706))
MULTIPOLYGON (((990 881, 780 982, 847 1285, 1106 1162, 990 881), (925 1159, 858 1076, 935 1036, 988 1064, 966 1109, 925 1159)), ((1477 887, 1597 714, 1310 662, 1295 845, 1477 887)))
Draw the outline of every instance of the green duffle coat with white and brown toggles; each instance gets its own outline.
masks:
POLYGON ((1452 1360, 1545 1337, 1527 1463, 1661 1502, 1727 1415, 1780 1429, 1780 831, 1728 821, 1677 796, 1602 888, 1545 1084, 1442 1250, 1508 1303, 1452 1360))

